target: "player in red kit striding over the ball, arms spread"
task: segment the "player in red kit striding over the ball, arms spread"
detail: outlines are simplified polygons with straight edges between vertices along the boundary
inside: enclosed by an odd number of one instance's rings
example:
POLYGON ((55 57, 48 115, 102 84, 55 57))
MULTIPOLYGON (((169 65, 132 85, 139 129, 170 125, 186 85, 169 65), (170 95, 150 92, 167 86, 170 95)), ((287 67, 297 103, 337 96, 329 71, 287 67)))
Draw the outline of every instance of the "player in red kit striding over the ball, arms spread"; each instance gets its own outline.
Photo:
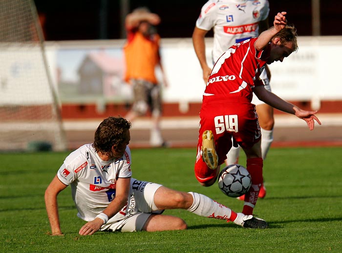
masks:
POLYGON ((287 25, 286 12, 278 13, 274 26, 259 37, 235 43, 215 63, 208 79, 200 111, 195 176, 203 186, 214 184, 232 136, 247 156, 252 186, 244 198, 243 214, 253 214, 262 184, 261 132, 253 93, 265 103, 294 114, 314 129, 317 111, 304 111, 267 91, 259 76, 266 64, 283 61, 298 49, 297 33, 287 25))

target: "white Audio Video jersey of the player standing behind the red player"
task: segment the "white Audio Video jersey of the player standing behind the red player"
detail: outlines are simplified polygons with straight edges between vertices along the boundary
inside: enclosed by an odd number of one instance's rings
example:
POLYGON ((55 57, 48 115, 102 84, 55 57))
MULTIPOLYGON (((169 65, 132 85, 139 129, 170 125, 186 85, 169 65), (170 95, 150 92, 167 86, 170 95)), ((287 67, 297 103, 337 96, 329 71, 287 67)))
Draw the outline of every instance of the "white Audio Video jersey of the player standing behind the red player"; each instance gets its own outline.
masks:
POLYGON ((257 37, 258 23, 269 15, 268 0, 209 0, 201 10, 196 27, 214 27, 213 63, 233 44, 257 37))

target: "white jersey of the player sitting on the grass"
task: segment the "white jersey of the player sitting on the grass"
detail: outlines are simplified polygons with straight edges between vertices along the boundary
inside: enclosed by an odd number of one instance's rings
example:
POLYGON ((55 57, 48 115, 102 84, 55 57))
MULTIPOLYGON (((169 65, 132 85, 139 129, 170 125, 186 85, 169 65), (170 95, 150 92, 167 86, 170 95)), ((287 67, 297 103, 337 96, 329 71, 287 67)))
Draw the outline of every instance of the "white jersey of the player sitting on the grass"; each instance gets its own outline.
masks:
MULTIPOLYGON (((71 185, 72 198, 78 210, 77 216, 91 221, 114 199, 117 178, 131 177, 130 166, 131 155, 128 146, 121 158, 103 161, 92 144, 86 144, 65 158, 57 176, 65 185, 71 185)), ((128 203, 129 200, 128 197, 128 203)), ((121 220, 126 215, 127 207, 112 219, 121 220)))

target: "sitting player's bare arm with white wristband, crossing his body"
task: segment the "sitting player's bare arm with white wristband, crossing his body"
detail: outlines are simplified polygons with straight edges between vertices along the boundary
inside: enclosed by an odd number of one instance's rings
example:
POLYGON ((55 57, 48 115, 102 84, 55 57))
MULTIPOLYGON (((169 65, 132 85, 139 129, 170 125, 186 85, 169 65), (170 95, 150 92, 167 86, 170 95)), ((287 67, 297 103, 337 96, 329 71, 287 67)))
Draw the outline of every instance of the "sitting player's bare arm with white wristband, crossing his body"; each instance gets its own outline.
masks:
MULTIPOLYGON (((106 214, 108 218, 111 218, 117 214, 126 204, 128 199, 130 187, 130 177, 118 178, 116 181, 116 192, 114 199, 110 202, 108 207, 102 212, 106 214)), ((95 218, 92 221, 85 223, 80 229, 79 234, 91 235, 99 231, 101 226, 104 224, 104 220, 101 218, 95 218)))

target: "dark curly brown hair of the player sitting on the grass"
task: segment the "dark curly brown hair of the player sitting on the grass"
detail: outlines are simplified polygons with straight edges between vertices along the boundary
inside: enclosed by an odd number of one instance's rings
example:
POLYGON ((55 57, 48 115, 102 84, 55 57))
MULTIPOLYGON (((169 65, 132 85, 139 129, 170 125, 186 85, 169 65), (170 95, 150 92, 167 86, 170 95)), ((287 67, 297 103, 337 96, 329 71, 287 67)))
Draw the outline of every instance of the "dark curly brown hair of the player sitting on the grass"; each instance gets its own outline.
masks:
POLYGON ((131 127, 131 123, 123 117, 108 117, 97 127, 93 147, 97 153, 111 156, 112 147, 120 145, 124 140, 124 133, 131 127))

